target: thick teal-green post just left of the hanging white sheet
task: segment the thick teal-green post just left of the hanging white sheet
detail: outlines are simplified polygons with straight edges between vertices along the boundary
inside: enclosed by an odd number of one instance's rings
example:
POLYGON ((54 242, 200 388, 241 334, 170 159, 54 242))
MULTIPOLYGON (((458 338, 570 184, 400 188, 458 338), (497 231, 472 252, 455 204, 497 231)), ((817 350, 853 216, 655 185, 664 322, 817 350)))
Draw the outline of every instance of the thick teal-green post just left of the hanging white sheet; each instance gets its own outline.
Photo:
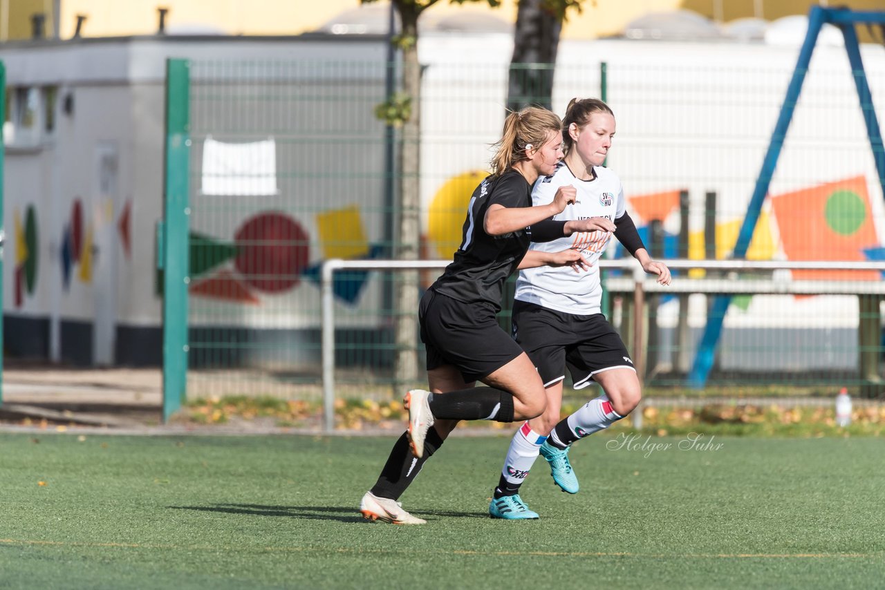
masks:
POLYGON ((166 60, 163 280, 163 421, 181 408, 188 375, 189 62, 166 60))

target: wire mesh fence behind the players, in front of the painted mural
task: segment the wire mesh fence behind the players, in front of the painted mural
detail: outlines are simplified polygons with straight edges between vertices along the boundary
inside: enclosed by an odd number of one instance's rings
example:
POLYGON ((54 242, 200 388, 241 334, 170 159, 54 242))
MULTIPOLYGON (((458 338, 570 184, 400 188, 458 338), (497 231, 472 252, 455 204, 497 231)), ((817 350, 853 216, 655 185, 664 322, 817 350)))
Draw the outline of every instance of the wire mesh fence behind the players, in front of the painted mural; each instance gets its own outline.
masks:
MULTIPOLYGON (((620 173, 628 209, 654 256, 726 258, 795 57, 722 63, 712 55, 710 63, 695 64, 660 56, 661 63, 639 65, 627 53, 612 57, 605 78, 599 63, 562 60, 554 110, 562 114, 572 96, 607 97, 619 124, 607 164, 620 173)), ((825 52, 808 76, 750 259, 880 259, 881 179, 840 57, 825 52), (834 249, 840 240, 853 251, 834 249)), ((506 67, 427 59, 419 146, 402 146, 396 129, 373 114, 396 65, 189 64, 189 246, 178 253, 189 258, 189 396, 319 399, 323 329, 334 330, 339 395, 393 394, 398 273, 336 273, 335 326, 325 326, 320 269, 333 258, 396 253, 400 149, 420 150, 424 257, 447 259, 457 247, 466 199, 500 134, 506 67)), ((868 60, 867 73, 873 96, 885 96, 885 57, 868 60)), ((861 375, 861 356, 881 375, 882 296, 872 287, 879 272, 834 277, 781 269, 764 278, 839 286, 813 295, 754 290, 742 271, 730 271, 725 277, 719 269, 680 269, 673 284, 696 290, 648 295, 641 321, 650 385, 683 385, 692 363, 707 297, 701 283, 689 280, 710 285, 726 278, 743 287, 731 291, 737 295, 710 386, 860 386, 873 378, 861 375), (861 333, 859 326, 873 328, 861 333)), ((415 309, 435 276, 421 273, 415 309)), ((632 287, 620 279, 608 274, 609 312, 619 326, 635 326, 625 296, 632 287)))

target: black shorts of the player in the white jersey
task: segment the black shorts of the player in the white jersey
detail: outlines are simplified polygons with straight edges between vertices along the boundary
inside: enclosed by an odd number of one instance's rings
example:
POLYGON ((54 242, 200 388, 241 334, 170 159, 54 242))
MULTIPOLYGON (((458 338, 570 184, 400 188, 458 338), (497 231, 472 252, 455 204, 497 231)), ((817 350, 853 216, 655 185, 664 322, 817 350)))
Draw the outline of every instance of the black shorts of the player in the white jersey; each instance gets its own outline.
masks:
POLYGON ((577 316, 517 300, 513 339, 532 359, 544 387, 565 379, 566 366, 575 389, 587 387, 597 372, 634 368, 620 334, 601 313, 577 316))

